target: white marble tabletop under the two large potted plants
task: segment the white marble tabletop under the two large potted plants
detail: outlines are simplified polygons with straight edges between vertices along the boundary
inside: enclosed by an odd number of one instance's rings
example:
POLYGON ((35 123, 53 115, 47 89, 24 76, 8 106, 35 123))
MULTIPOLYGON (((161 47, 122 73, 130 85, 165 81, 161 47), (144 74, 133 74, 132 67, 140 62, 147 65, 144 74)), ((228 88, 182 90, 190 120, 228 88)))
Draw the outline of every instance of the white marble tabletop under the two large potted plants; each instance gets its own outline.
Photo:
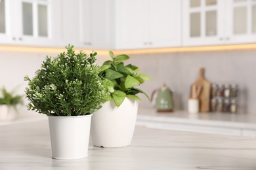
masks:
POLYGON ((256 139, 137 126, 131 146, 89 147, 81 160, 53 160, 47 120, 0 126, 0 169, 255 170, 256 139))

